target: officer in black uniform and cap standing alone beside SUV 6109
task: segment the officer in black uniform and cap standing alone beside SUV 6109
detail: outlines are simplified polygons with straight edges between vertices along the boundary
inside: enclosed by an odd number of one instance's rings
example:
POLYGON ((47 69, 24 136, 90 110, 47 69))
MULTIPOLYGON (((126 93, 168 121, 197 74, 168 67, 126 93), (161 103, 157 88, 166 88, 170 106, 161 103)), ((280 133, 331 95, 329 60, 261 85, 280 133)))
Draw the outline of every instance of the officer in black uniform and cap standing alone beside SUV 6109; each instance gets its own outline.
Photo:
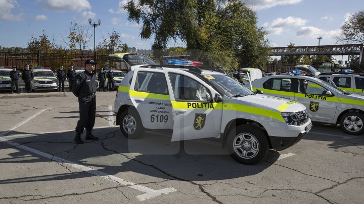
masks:
POLYGON ((81 134, 86 128, 86 140, 98 140, 91 131, 95 125, 96 118, 96 95, 98 81, 94 73, 96 61, 87 59, 85 61, 86 69, 76 76, 73 82, 72 93, 78 97, 80 119, 76 126, 76 136, 74 141, 82 144, 81 134))

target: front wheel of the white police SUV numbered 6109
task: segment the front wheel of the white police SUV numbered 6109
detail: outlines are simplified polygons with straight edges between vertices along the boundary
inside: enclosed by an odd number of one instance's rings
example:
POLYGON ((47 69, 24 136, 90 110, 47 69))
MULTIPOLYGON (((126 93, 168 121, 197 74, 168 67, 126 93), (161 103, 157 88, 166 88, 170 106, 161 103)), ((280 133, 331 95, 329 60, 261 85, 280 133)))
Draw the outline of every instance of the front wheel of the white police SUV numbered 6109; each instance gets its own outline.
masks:
POLYGON ((226 141, 231 157, 242 164, 262 161, 269 149, 267 135, 257 126, 243 124, 232 129, 226 141))

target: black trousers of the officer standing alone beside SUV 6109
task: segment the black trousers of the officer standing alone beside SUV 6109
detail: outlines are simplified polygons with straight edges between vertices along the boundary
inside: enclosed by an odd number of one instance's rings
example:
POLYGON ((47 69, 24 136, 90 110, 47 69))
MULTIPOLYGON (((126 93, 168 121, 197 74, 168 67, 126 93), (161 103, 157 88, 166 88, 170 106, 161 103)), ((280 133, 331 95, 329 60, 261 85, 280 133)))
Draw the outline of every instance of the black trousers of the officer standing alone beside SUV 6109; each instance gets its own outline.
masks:
POLYGON ((78 96, 80 119, 77 122, 76 132, 82 134, 83 129, 89 132, 94 128, 96 117, 96 96, 78 96))

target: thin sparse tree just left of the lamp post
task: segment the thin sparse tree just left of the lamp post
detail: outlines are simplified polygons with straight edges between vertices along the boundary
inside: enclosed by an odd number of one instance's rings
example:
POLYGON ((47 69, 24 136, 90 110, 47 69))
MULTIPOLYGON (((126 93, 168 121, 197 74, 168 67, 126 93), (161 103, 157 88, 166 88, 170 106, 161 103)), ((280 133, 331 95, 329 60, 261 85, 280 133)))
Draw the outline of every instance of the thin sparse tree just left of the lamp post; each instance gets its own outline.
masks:
POLYGON ((83 23, 79 24, 77 21, 70 23, 69 31, 66 32, 66 38, 68 41, 64 38, 63 41, 69 46, 71 51, 83 54, 83 51, 86 49, 86 45, 90 39, 88 28, 88 25, 83 23))

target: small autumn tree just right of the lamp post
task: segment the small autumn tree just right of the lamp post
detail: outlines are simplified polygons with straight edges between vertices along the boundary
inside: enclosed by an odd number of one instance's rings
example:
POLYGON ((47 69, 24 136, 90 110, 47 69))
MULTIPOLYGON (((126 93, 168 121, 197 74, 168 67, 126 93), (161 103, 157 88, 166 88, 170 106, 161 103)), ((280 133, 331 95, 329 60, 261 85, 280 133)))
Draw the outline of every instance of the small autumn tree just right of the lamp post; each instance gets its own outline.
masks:
POLYGON ((96 46, 99 54, 112 54, 117 52, 127 52, 127 44, 123 44, 119 33, 113 31, 108 33, 108 38, 103 40, 96 46))

